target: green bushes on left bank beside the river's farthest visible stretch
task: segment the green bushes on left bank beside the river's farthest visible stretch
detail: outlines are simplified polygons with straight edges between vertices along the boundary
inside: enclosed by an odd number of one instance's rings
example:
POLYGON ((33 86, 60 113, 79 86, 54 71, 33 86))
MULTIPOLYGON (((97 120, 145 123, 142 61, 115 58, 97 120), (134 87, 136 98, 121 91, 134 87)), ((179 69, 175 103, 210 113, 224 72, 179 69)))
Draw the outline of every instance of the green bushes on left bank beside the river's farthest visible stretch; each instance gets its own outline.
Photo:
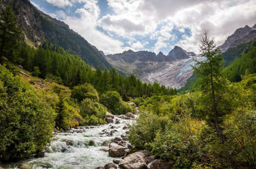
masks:
POLYGON ((134 112, 135 108, 128 103, 121 100, 119 93, 115 91, 108 91, 100 96, 100 103, 105 105, 113 114, 125 114, 134 112))

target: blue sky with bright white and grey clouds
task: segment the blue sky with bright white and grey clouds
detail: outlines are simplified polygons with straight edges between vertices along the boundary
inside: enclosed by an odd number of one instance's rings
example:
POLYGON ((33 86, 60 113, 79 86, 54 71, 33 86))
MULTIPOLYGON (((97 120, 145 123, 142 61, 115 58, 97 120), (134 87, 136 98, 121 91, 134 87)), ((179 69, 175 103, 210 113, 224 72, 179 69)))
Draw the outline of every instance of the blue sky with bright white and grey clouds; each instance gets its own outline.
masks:
POLYGON ((31 0, 64 21, 105 54, 147 50, 168 54, 175 45, 198 53, 205 29, 221 45, 256 23, 256 0, 31 0))

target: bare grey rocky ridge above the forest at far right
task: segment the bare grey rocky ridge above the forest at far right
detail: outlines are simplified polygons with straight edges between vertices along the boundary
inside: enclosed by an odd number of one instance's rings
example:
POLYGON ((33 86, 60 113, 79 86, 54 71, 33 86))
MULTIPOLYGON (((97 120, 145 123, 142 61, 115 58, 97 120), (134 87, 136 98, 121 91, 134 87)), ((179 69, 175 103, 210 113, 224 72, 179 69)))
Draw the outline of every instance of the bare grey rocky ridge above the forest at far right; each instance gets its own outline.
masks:
POLYGON ((221 51, 227 51, 228 48, 236 47, 241 43, 249 42, 256 37, 256 25, 252 28, 248 25, 244 26, 244 28, 238 28, 236 31, 227 37, 227 40, 223 45, 219 46, 221 51))

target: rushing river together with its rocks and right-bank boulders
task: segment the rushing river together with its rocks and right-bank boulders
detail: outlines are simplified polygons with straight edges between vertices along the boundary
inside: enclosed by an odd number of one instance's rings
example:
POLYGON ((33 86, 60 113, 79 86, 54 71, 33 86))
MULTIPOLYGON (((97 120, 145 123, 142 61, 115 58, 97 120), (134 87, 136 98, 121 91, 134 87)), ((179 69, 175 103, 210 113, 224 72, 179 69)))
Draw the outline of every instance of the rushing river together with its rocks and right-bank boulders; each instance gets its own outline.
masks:
POLYGON ((128 124, 135 113, 107 113, 106 124, 81 126, 55 133, 50 146, 38 158, 8 163, 6 169, 169 169, 173 163, 150 156, 127 141, 128 124), (42 157, 43 156, 43 157, 42 157))

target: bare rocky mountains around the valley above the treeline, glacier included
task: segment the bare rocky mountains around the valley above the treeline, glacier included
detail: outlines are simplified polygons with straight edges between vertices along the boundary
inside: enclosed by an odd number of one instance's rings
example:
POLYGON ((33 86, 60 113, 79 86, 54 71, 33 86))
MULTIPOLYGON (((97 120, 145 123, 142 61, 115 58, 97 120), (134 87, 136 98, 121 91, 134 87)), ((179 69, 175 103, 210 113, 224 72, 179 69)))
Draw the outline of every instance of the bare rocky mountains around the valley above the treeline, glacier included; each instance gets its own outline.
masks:
MULTIPOLYGON (((35 8, 29 0, 0 0, 0 12, 11 6, 17 16, 19 26, 23 28, 26 43, 39 46, 46 39, 49 42, 61 46, 70 54, 76 54, 87 64, 94 68, 116 68, 122 75, 134 74, 143 82, 153 83, 155 79, 169 87, 183 87, 193 71, 190 65, 194 64, 192 58, 203 60, 193 52, 187 52, 175 46, 168 55, 162 52, 155 54, 150 51, 124 51, 120 54, 106 55, 95 46, 87 42, 67 24, 56 20, 35 8), (123 74, 124 73, 124 74, 123 74)), ((237 45, 244 44, 256 37, 256 25, 238 28, 230 35, 223 45, 219 46, 222 52, 232 49, 237 45)), ((241 49, 245 45, 241 45, 241 49)), ((233 52, 236 54, 237 52, 233 52)), ((231 56, 228 52, 226 63, 232 62, 239 56, 231 56), (229 57, 229 58, 227 58, 229 57)), ((237 54, 236 54, 237 55, 237 54)))

